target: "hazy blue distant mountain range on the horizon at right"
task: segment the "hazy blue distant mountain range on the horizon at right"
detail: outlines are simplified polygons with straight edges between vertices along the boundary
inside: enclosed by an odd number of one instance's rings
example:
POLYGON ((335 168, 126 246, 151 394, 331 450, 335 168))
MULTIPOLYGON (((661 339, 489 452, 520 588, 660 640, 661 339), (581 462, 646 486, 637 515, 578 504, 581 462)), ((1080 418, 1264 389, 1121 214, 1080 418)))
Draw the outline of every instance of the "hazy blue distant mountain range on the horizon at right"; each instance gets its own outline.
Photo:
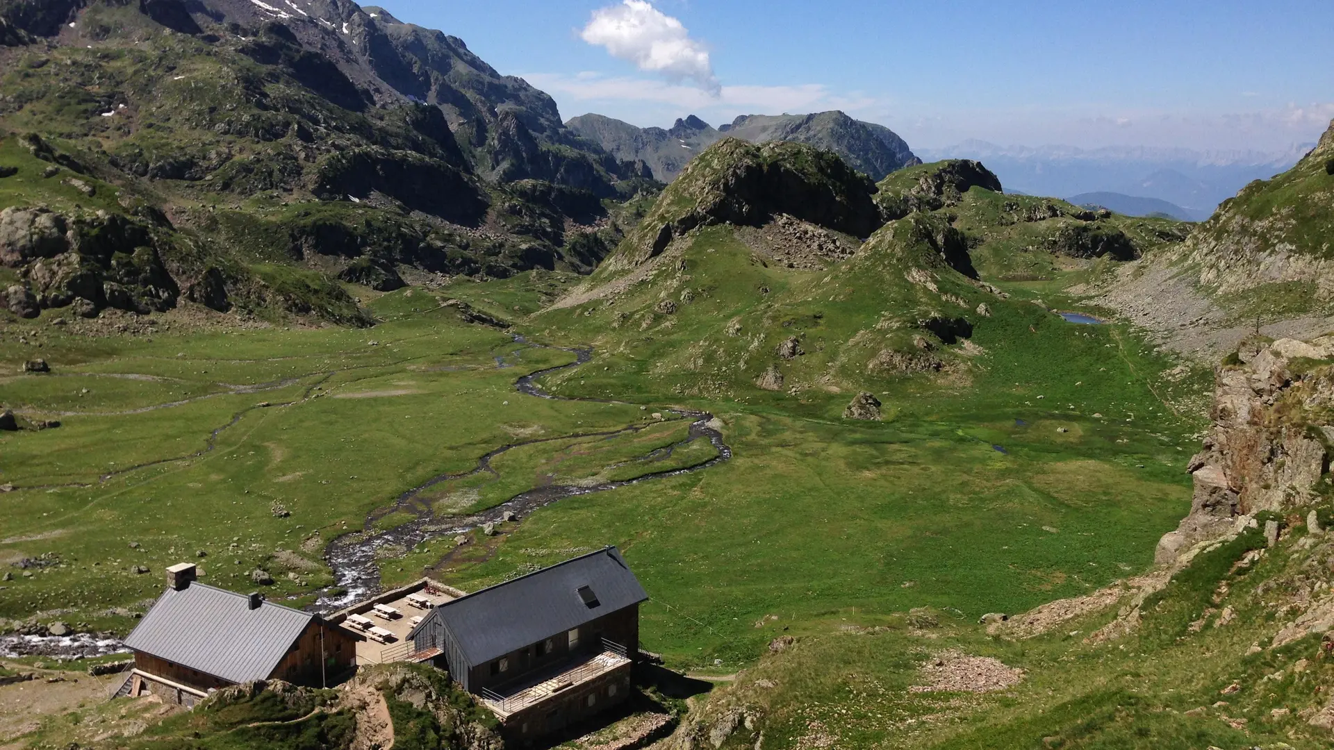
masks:
POLYGON ((1209 215, 1251 180, 1290 168, 1314 144, 1281 152, 1194 151, 1189 148, 1071 145, 996 145, 966 140, 946 148, 918 149, 923 159, 976 159, 999 175, 1007 190, 1031 195, 1077 196, 1117 192, 1157 198, 1209 215))

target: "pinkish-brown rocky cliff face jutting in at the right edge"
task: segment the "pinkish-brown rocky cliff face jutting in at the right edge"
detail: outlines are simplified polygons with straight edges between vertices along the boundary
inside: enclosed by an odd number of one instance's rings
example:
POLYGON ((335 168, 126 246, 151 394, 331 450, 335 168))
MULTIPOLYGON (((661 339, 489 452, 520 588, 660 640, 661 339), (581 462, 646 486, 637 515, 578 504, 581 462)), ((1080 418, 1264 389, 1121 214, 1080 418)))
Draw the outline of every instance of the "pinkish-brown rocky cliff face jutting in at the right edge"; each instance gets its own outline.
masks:
POLYGON ((1243 342, 1217 370, 1213 427, 1191 458, 1190 514, 1158 543, 1171 563, 1199 542, 1249 526, 1261 511, 1287 512, 1322 488, 1334 444, 1334 336, 1311 343, 1243 342))

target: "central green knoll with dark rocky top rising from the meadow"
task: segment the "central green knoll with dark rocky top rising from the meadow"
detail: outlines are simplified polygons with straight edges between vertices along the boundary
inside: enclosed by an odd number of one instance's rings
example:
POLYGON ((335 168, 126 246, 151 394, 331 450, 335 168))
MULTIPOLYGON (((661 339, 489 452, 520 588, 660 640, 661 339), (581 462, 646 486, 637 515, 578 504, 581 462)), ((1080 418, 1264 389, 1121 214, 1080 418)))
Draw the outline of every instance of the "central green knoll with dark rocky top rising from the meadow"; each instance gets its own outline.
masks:
POLYGON ((1011 303, 946 216, 884 223, 874 191, 834 153, 723 140, 538 323, 695 396, 966 379, 974 326, 1011 303))

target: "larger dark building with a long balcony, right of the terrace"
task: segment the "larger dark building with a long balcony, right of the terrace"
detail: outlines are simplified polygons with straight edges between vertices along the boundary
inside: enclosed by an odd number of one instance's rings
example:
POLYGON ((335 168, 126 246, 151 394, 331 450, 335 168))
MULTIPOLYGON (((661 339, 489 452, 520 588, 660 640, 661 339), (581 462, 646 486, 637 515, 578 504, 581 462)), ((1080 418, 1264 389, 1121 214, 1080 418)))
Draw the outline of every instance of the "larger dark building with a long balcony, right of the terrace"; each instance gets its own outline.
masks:
POLYGON ((523 745, 626 699, 647 599, 604 547, 446 602, 408 638, 523 745))

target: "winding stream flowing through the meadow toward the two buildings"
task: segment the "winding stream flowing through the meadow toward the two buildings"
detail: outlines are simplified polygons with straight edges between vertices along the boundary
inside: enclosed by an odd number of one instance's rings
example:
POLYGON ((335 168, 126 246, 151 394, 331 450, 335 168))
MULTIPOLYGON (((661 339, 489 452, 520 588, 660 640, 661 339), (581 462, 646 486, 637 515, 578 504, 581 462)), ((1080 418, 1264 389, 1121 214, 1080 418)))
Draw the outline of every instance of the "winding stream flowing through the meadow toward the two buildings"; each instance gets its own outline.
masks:
MULTIPOLYGON (((515 342, 520 344, 527 344, 532 348, 560 348, 560 351, 568 351, 575 355, 575 362, 570 364, 562 364, 558 367, 548 367, 546 370, 538 370, 519 378, 515 382, 515 390, 520 394, 551 400, 579 400, 579 402, 592 402, 592 403, 615 403, 626 404, 628 402, 612 400, 612 399, 592 399, 592 398, 570 398, 558 396, 547 392, 538 384, 538 379, 550 375, 552 372, 559 372, 562 370, 571 370, 587 364, 592 359, 592 350, 587 348, 562 348, 562 347, 546 347, 543 344, 534 344, 527 342, 523 336, 515 336, 515 342)), ((520 350, 522 351, 522 350, 520 350)), ((510 367, 503 356, 496 358, 496 367, 510 367)), ((714 427, 714 415, 704 411, 691 411, 682 408, 664 408, 662 410, 668 414, 675 414, 680 418, 690 419, 690 431, 686 439, 670 446, 667 448, 656 448, 650 455, 640 456, 638 460, 655 460, 671 455, 671 451, 679 446, 691 443, 698 439, 707 439, 718 455, 714 458, 700 462, 695 466, 671 468, 664 471, 655 471, 650 474, 643 474, 634 479, 624 479, 618 482, 603 482, 599 484, 590 486, 571 486, 571 484, 547 484, 542 487, 534 487, 510 498, 508 500, 487 508, 482 512, 458 516, 458 518, 436 518, 432 511, 430 502, 423 498, 423 494, 440 484, 443 482, 450 482, 454 479, 462 479, 464 476, 472 476, 476 474, 495 474, 491 468, 491 460, 498 455, 519 448, 523 446, 532 446, 539 443, 550 443, 558 440, 570 440, 576 438, 612 438, 616 435, 638 432, 647 427, 647 424, 632 424, 628 427, 622 427, 619 430, 608 430, 599 432, 576 432, 571 435, 559 435, 554 438, 538 438, 532 440, 523 440, 518 443, 507 443, 500 446, 482 458, 474 468, 468 471, 440 474, 432 476, 423 484, 408 490, 399 495, 398 500, 387 507, 376 508, 371 515, 367 516, 359 531, 352 531, 334 539, 324 552, 324 559, 329 569, 334 571, 334 586, 336 594, 327 594, 320 597, 319 601, 312 605, 312 610, 320 613, 328 613, 346 607, 354 602, 364 599, 372 594, 382 590, 380 586, 380 571, 376 566, 376 552, 386 546, 402 546, 408 550, 416 547, 418 544, 427 542, 430 539, 439 539, 454 536, 471 531, 484 523, 499 523, 507 515, 514 519, 522 519, 534 510, 551 504, 562 498, 571 498, 575 495, 590 495, 592 492, 603 492, 606 490, 615 490, 618 487, 627 487, 631 484, 639 484, 643 482, 652 482, 655 479, 664 479, 668 476, 679 476, 682 474, 691 474, 695 471, 703 471, 716 463, 722 463, 732 458, 732 450, 727 443, 723 442, 722 432, 714 427), (375 531, 375 523, 394 512, 407 511, 415 515, 414 520, 410 520, 402 526, 386 531, 375 531)))

